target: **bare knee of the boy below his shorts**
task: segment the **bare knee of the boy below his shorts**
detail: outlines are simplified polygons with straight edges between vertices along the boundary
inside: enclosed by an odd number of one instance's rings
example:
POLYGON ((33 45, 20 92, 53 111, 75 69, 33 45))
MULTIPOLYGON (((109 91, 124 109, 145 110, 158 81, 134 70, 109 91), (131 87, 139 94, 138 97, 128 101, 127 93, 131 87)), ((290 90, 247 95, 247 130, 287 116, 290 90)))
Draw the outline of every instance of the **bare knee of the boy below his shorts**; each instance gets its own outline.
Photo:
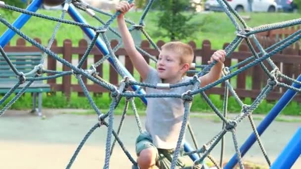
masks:
POLYGON ((157 169, 155 166, 156 156, 156 151, 153 148, 142 150, 137 159, 140 169, 157 169))

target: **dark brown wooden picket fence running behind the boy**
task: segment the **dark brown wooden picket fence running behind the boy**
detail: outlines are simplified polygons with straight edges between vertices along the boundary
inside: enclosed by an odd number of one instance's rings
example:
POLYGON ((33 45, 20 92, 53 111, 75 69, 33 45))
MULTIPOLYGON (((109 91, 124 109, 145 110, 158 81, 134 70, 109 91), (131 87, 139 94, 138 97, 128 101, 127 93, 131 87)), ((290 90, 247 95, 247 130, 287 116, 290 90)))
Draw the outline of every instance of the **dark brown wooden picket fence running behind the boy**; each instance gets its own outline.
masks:
MULTIPOLYGON (((41 42, 39 39, 36 39, 38 42, 41 42)), ((259 38, 259 41, 263 45, 264 48, 270 46, 271 44, 275 43, 275 40, 269 40, 267 38, 259 38)), ((116 41, 112 41, 111 45, 115 46, 117 44, 116 41)), ((164 42, 159 41, 157 42, 158 46, 163 45, 164 42)), ((207 60, 210 58, 210 56, 213 54, 215 49, 211 49, 210 42, 208 40, 203 41, 200 45, 201 47, 197 47, 197 44, 195 42, 189 43, 195 51, 195 62, 197 65, 200 65, 201 63, 207 63, 207 60)), ((198 44, 199 45, 199 44, 198 44)), ((224 44, 226 46, 227 44, 224 44)), ((56 42, 53 43, 51 50, 55 53, 58 53, 62 55, 62 57, 67 60, 68 62, 72 63, 75 60, 78 61, 80 59, 84 52, 87 49, 87 42, 85 40, 81 40, 77 46, 72 46, 72 42, 70 40, 65 40, 63 42, 62 46, 57 46, 56 42)), ((157 56, 159 53, 150 47, 150 43, 147 41, 143 41, 141 43, 141 47, 146 50, 151 55, 157 56)), ((9 44, 5 46, 4 50, 6 52, 16 52, 16 51, 40 51, 35 46, 26 46, 25 41, 23 39, 17 40, 17 43, 15 46, 10 46, 9 44)), ((256 49, 258 50, 258 49, 256 49)), ((123 58, 123 64, 125 65, 126 69, 133 74, 134 68, 133 65, 127 56, 126 51, 123 48, 118 49, 115 52, 116 56, 119 58, 123 58)), ((102 58, 102 55, 100 51, 94 47, 90 53, 91 56, 90 62, 96 62, 102 58), (92 59, 93 57, 93 59, 92 59)), ((249 51, 249 48, 246 44, 242 43, 238 50, 233 52, 230 58, 227 58, 225 61, 226 66, 231 66, 236 64, 237 62, 241 62, 244 59, 247 59, 251 56, 251 52, 249 51)), ((145 57, 148 63, 150 63, 149 58, 145 57)), ((276 55, 272 56, 272 60, 276 63, 277 66, 280 67, 281 72, 284 74, 297 78, 301 73, 301 50, 299 48, 299 43, 294 44, 294 46, 288 47, 285 50, 281 51, 280 53, 277 53, 276 55)), ((91 63, 89 63, 90 65, 91 63)), ((265 63, 266 64, 266 63, 265 63)), ((53 59, 52 57, 48 57, 47 59, 47 69, 50 70, 61 70, 57 65, 57 61, 53 59)), ((86 69, 88 66, 87 61, 83 64, 83 69, 86 69)), ((104 70, 103 65, 100 65, 97 68, 97 72, 99 73, 100 77, 103 77, 103 72, 108 72, 108 81, 111 84, 118 85, 120 78, 118 80, 118 74, 116 71, 109 66, 109 71, 104 70)), ((68 71, 70 68, 67 66, 62 66, 63 71, 68 71)), ((271 69, 270 69, 271 70, 271 69)), ((253 68, 239 74, 237 78, 233 78, 230 80, 231 84, 235 86, 235 90, 237 94, 240 97, 251 97, 256 98, 256 96, 259 94, 261 88, 267 83, 267 76, 264 74, 263 70, 259 65, 254 66, 253 68)), ((97 84, 93 84, 91 82, 87 83, 87 79, 84 78, 84 82, 87 85, 87 88, 89 91, 94 93, 102 93, 102 92, 108 92, 101 86, 97 84)), ((52 91, 62 91, 65 95, 70 96, 71 92, 78 92, 79 95, 83 95, 82 88, 79 84, 72 83, 71 82, 71 76, 64 76, 62 78, 62 83, 58 83, 56 79, 51 79, 47 81, 48 84, 50 84, 52 91)), ((288 82, 286 82, 288 83, 288 82)), ((206 91, 207 94, 220 94, 222 95, 224 93, 223 87, 213 87, 206 91)), ((281 97, 281 95, 284 93, 284 88, 275 87, 272 92, 267 96, 267 100, 277 100, 281 97)), ((298 94, 295 97, 295 100, 298 102, 301 102, 301 95, 298 94)))

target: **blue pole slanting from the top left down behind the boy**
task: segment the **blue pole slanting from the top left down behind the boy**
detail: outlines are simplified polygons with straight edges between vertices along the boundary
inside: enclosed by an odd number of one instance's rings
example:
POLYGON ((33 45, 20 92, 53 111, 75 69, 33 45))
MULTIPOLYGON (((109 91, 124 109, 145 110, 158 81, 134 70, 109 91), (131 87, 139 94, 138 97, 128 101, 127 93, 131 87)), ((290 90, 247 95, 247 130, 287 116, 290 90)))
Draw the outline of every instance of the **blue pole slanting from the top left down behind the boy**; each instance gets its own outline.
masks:
MULTIPOLYGON (((74 7, 74 5, 70 4, 69 9, 68 9, 68 13, 69 15, 76 21, 76 22, 81 22, 81 23, 85 23, 87 24, 86 20, 77 12, 76 8, 74 7)), ((81 29, 84 31, 84 33, 90 38, 93 39, 93 37, 95 36, 95 32, 92 29, 89 28, 85 28, 85 27, 81 27, 81 29)), ((102 52, 103 55, 107 55, 109 53, 106 45, 104 42, 102 42, 102 40, 100 38, 98 38, 96 44, 95 44, 100 51, 102 52)), ((108 58, 108 61, 111 63, 111 65, 113 67, 115 67, 116 65, 114 65, 114 62, 112 62, 112 58, 108 58)), ((128 70, 120 63, 118 62, 119 66, 121 67, 121 69, 125 72, 126 76, 128 76, 131 79, 134 79, 133 76, 128 72, 128 70)), ((137 90, 138 86, 132 86, 133 90, 137 90)), ((139 93, 143 93, 145 94, 144 90, 140 90, 139 93)), ((142 101, 147 104, 147 100, 145 97, 142 98, 142 101)), ((184 148, 186 150, 186 152, 192 151, 192 148, 187 144, 184 143, 184 148)), ((198 158, 197 154, 192 154, 190 155, 190 158, 193 161, 196 161, 198 158)))

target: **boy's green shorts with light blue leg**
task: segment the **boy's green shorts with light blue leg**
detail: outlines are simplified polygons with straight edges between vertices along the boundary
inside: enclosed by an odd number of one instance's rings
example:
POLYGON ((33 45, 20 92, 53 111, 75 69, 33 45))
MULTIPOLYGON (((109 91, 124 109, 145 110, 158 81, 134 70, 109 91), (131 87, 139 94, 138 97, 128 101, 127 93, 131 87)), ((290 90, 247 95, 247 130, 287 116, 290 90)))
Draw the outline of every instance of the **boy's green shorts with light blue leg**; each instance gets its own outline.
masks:
MULTIPOLYGON (((147 148, 153 148, 156 152, 156 166, 159 169, 170 169, 171 161, 173 158, 174 149, 158 149, 156 148, 151 139, 151 134, 148 132, 142 132, 136 139, 136 154, 140 155, 142 150, 147 148)), ((183 153, 183 148, 181 148, 180 156, 183 153)), ((176 169, 181 169, 185 167, 185 164, 178 158, 176 169)))

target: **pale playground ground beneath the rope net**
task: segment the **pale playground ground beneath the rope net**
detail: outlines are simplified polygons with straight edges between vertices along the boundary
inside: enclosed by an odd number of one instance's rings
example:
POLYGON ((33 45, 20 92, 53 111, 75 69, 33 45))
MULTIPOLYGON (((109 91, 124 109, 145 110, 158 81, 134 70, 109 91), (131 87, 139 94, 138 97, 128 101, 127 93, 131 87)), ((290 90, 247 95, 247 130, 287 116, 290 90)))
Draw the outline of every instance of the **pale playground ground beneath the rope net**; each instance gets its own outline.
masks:
MULTIPOLYGON (((71 110, 70 110, 71 111, 71 110)), ((53 110, 46 112, 46 120, 24 111, 7 111, 0 117, 0 169, 62 169, 65 168, 75 149, 88 130, 97 123, 95 115, 58 114, 53 110)), ((114 118, 117 128, 120 116, 114 118)), ((142 117, 142 122, 144 117, 142 117)), ((221 123, 207 119, 191 118, 199 145, 209 141, 221 130, 221 123)), ((259 121, 255 121, 258 125, 259 121)), ((274 122, 262 134, 264 147, 273 162, 292 135, 300 127, 300 123, 274 122)), ((127 150, 136 159, 134 142, 139 131, 133 116, 127 116, 120 135, 127 150)), ((240 123, 237 129, 238 143, 242 145, 251 133, 248 120, 240 123)), ((106 128, 100 127, 80 151, 72 169, 100 169, 104 164, 106 128)), ((225 136, 225 160, 229 160, 235 150, 232 135, 225 136)), ((187 141, 190 138, 187 136, 187 141)), ((218 161, 220 144, 214 148, 212 156, 218 161)), ((185 159, 190 163, 189 159, 185 159)), ((266 166, 264 157, 257 143, 243 158, 255 164, 266 166)), ((111 169, 130 169, 131 162, 127 159, 120 146, 116 146, 110 160, 111 169)), ((301 158, 293 169, 301 169, 301 158)))

